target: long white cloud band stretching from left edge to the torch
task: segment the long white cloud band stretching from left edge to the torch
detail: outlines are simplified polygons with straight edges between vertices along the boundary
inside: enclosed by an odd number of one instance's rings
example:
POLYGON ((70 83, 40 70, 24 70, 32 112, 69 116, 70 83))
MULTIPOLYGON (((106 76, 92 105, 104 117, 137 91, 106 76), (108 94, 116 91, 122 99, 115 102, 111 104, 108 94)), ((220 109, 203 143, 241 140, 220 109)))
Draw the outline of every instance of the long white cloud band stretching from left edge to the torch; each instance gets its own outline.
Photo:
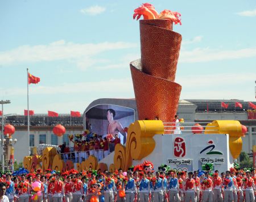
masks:
MULTIPOLYGON (((86 69, 99 60, 94 59, 99 53, 109 50, 137 47, 135 43, 108 41, 97 44, 75 44, 64 40, 54 41, 48 45, 23 45, 18 48, 0 52, 0 64, 11 65, 42 61, 68 60, 76 62, 80 69, 86 69)), ((102 62, 102 61, 99 61, 102 62)))

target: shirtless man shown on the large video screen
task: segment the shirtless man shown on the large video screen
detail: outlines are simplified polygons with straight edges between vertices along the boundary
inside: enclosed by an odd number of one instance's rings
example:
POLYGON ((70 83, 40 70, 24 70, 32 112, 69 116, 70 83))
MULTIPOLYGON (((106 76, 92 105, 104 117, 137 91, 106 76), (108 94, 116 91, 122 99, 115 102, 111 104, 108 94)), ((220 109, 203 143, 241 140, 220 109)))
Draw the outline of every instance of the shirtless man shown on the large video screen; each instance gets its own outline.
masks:
POLYGON ((108 134, 112 134, 113 136, 115 136, 115 134, 118 134, 118 132, 120 132, 123 135, 123 142, 121 141, 121 143, 125 144, 126 132, 123 129, 121 123, 117 120, 114 120, 114 117, 115 117, 115 111, 113 109, 108 109, 107 110, 107 119, 109 122, 108 134))

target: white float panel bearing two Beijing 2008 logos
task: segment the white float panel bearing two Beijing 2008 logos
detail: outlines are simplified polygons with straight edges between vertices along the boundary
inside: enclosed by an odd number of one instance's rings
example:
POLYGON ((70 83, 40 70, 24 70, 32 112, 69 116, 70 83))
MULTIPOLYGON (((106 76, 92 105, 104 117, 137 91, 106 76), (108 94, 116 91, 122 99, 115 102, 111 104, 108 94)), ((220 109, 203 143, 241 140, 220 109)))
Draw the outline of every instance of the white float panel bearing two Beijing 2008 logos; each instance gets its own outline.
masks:
POLYGON ((204 163, 213 163, 214 170, 226 171, 233 165, 228 134, 156 134, 154 151, 141 161, 151 161, 155 170, 166 164, 178 171, 201 170, 204 163))

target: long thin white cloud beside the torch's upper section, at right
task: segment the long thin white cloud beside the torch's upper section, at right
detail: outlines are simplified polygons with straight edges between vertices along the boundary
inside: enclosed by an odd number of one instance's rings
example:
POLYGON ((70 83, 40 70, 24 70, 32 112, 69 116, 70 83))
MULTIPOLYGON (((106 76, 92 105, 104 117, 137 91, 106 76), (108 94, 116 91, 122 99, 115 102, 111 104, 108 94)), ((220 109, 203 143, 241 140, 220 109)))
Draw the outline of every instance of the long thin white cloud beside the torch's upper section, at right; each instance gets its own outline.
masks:
POLYGON ((193 50, 181 50, 179 62, 209 62, 219 60, 230 60, 249 58, 256 56, 256 48, 245 48, 238 50, 218 50, 209 48, 195 48, 193 50))

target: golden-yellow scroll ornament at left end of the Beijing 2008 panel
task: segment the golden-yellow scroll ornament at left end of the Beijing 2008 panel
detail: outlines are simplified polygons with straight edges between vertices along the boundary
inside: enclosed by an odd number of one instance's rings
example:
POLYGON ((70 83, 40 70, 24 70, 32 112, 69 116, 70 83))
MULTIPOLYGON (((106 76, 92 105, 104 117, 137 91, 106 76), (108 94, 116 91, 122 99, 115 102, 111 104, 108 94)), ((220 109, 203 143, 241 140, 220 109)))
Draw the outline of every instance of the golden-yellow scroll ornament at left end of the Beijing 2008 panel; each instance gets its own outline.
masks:
POLYGON ((155 149, 155 134, 163 134, 162 121, 135 121, 129 126, 126 146, 117 144, 114 150, 114 168, 127 170, 134 160, 141 160, 155 149))

